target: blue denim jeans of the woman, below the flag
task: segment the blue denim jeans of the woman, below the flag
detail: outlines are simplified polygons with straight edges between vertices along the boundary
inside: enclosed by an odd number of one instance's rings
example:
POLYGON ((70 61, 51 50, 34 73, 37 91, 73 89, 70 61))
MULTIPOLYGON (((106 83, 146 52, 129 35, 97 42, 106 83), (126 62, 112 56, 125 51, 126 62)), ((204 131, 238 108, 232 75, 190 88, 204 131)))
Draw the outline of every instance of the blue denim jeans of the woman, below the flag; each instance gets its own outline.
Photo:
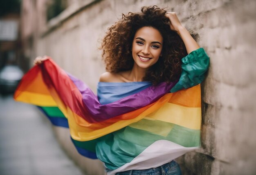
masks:
POLYGON ((116 173, 116 175, 182 175, 182 173, 179 164, 173 160, 157 168, 128 170, 116 173))

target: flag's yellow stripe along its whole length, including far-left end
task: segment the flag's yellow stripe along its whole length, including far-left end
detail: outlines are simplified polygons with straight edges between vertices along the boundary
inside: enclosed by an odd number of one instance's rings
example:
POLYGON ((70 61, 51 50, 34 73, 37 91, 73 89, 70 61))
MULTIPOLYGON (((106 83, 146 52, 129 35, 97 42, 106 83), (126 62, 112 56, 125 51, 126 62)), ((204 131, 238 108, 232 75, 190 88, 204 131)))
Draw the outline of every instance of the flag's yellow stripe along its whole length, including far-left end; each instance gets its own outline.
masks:
POLYGON ((51 91, 51 96, 23 91, 19 94, 16 100, 40 106, 56 106, 56 104, 58 104, 58 108, 60 108, 65 117, 68 118, 70 134, 72 138, 78 141, 88 141, 102 137, 103 135, 124 128, 131 123, 135 123, 145 117, 147 119, 157 119, 175 123, 191 129, 200 129, 201 109, 182 107, 180 105, 168 103, 172 97, 172 93, 164 95, 134 119, 121 121, 109 119, 107 121, 103 121, 102 123, 88 123, 82 117, 72 112, 72 110, 66 107, 63 101, 58 97, 58 94, 55 90, 51 91), (152 112, 153 114, 150 114, 152 112), (171 113, 173 117, 170 117, 171 113), (106 123, 107 125, 109 124, 109 126, 106 126, 106 123))

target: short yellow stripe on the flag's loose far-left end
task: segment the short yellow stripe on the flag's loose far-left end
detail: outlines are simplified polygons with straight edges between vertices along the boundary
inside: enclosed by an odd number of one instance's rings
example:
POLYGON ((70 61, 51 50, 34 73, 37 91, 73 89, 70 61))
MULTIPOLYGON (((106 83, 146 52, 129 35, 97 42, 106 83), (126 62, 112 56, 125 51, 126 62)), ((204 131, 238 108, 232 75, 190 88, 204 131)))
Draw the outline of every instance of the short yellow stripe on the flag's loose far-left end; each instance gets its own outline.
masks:
POLYGON ((57 106, 52 96, 28 91, 20 92, 20 94, 16 97, 15 100, 38 106, 57 106))

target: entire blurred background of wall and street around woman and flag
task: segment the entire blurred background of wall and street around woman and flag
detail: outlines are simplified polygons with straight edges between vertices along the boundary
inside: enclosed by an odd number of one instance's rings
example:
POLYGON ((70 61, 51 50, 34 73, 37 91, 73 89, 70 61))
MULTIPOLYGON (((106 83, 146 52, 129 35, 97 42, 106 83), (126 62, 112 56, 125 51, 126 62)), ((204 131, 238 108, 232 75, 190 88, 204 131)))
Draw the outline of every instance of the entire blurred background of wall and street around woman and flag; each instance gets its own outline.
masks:
POLYGON ((108 27, 150 5, 175 11, 210 56, 202 144, 177 159, 183 175, 256 174, 256 0, 0 0, 0 175, 104 175, 99 160, 77 153, 68 129, 11 93, 44 55, 96 92, 108 27))

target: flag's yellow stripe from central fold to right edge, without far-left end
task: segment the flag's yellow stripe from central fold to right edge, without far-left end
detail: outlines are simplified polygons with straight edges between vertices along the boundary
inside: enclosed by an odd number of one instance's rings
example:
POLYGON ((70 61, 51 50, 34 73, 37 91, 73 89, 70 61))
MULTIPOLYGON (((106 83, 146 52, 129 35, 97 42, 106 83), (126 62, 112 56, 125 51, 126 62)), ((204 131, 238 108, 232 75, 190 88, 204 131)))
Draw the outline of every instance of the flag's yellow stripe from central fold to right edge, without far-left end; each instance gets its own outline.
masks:
POLYGON ((70 108, 66 108, 60 99, 56 99, 56 102, 59 104, 58 107, 61 109, 63 114, 68 118, 71 137, 78 141, 97 139, 108 133, 124 128, 131 123, 140 121, 145 117, 146 119, 157 119, 161 121, 175 123, 191 129, 200 129, 201 108, 188 108, 182 107, 180 105, 167 103, 167 101, 170 99, 170 96, 171 94, 166 94, 134 119, 121 121, 110 119, 107 121, 103 121, 102 123, 88 123, 82 117, 75 114, 70 108), (163 104, 164 106, 162 106, 163 104), (156 110, 157 112, 154 112, 156 110), (153 115, 151 115, 152 112, 154 112, 153 115), (168 115, 170 114, 169 112, 173 112, 173 117, 170 117, 170 115, 168 115), (105 123, 109 123, 110 125, 106 126, 105 123), (102 125, 106 127, 102 128, 102 125))

